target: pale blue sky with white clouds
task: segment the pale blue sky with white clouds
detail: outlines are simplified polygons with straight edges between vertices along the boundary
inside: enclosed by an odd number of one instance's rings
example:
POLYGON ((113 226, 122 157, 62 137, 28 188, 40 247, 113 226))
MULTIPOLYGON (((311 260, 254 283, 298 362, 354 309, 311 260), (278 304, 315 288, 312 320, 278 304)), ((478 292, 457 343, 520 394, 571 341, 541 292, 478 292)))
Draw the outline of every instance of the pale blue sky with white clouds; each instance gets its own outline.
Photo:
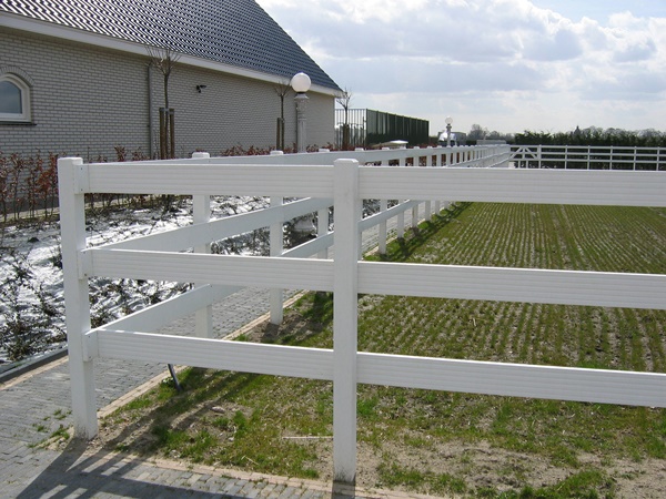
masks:
POLYGON ((445 129, 666 131, 666 0, 256 0, 352 108, 445 129))

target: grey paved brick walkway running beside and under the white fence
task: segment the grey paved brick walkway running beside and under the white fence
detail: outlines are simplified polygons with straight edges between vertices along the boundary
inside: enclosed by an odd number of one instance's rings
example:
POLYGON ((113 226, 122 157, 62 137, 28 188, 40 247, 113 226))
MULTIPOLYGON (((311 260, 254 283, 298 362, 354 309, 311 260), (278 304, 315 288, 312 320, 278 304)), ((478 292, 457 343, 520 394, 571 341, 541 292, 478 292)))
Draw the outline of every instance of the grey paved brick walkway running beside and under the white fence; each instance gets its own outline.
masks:
MULTIPOLYGON (((364 247, 375 234, 364 234, 364 247)), ((215 332, 226 336, 269 309, 269 292, 243 289, 213 308, 215 332)), ((192 330, 188 317, 162 330, 192 330)), ((163 364, 95 359, 98 407, 110 408, 169 376, 163 364)), ((0 380, 0 498, 323 498, 417 497, 332 483, 243 473, 175 461, 145 461, 90 451, 71 440, 62 451, 40 444, 73 425, 67 357, 0 380)), ((104 413, 104 409, 101 410, 104 413)))

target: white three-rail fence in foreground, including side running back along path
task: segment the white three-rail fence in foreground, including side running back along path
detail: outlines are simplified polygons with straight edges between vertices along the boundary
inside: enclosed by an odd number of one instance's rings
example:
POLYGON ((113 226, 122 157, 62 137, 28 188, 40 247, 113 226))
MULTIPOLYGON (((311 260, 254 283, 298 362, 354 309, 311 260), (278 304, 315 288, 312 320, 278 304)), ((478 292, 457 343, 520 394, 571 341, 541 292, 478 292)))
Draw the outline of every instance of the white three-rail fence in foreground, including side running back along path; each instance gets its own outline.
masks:
MULTIPOLYGON (((666 206, 666 175, 662 172, 491 167, 505 166, 508 159, 508 146, 500 146, 113 164, 60 160, 62 256, 77 436, 92 438, 98 432, 92 370, 97 357, 332 380, 334 475, 344 482, 353 482, 356 473, 360 383, 666 407, 665 374, 357 352, 359 293, 666 308, 666 275, 360 261, 361 231, 367 223, 361 222, 362 200, 666 206), (404 167, 410 163, 432 167, 404 167), (164 234, 88 248, 83 196, 93 192, 189 194, 194 197, 195 223, 164 234), (243 217, 209 222, 211 194, 271 196, 275 203, 243 217), (303 201, 281 205, 283 197, 303 201), (294 214, 327 207, 331 201, 334 233, 321 234, 290 257, 206 254, 212 241, 246 232, 251 226, 279 226, 294 214), (331 242, 332 259, 305 257, 322 256, 331 242), (192 247, 194 253, 188 253, 192 247), (188 282, 196 287, 91 329, 88 278, 92 276, 188 282), (240 286, 333 292, 333 349, 210 338, 210 306, 240 286), (198 317, 198 337, 154 334, 162 325, 192 313, 198 317)), ((386 211, 382 213, 380 217, 389 216, 386 211)))

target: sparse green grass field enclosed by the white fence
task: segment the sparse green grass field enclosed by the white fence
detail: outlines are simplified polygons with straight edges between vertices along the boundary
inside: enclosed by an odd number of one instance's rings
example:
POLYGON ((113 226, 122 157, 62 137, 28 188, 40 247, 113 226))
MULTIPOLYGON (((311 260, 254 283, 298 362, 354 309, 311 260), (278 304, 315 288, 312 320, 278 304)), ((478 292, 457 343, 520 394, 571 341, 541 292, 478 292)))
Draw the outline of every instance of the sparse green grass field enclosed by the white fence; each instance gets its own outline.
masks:
MULTIPOLYGON (((374 257, 380 259, 379 257, 374 257)), ((666 210, 461 204, 381 259, 666 274, 666 210)), ((365 295, 364 352, 666 371, 666 312, 365 295)), ((332 296, 244 340, 332 347, 332 296)), ((331 384, 188 369, 103 424, 111 448, 329 479, 331 384)), ((359 483, 473 497, 666 496, 666 411, 359 388, 359 483)))

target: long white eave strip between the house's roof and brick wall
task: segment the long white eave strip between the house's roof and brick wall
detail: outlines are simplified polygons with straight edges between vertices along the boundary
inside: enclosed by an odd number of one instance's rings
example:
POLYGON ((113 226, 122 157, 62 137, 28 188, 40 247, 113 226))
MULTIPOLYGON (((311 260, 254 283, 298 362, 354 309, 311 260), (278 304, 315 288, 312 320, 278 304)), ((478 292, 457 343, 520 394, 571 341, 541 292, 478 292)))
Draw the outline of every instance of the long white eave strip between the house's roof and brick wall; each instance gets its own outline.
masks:
MULTIPOLYGON (((2 16, 0 16, 0 27, 6 27, 19 31, 26 31, 32 34, 59 38, 75 43, 85 43, 103 49, 118 50, 121 52, 143 55, 148 58, 148 51, 145 49, 145 45, 141 43, 120 40, 104 34, 91 33, 74 28, 62 27, 50 22, 40 21, 37 19, 29 19, 22 16, 16 16, 12 13, 3 13, 2 16)), ((221 62, 195 58, 186 54, 180 54, 179 62, 182 64, 192 65, 194 68, 208 69, 221 73, 232 74, 235 77, 264 81, 268 83, 281 83, 284 81, 284 77, 263 73, 261 71, 253 71, 250 69, 239 68, 235 65, 224 64, 221 62)), ((312 85, 311 91, 331 96, 335 96, 339 93, 339 90, 336 89, 330 89, 316 84, 312 85)))

